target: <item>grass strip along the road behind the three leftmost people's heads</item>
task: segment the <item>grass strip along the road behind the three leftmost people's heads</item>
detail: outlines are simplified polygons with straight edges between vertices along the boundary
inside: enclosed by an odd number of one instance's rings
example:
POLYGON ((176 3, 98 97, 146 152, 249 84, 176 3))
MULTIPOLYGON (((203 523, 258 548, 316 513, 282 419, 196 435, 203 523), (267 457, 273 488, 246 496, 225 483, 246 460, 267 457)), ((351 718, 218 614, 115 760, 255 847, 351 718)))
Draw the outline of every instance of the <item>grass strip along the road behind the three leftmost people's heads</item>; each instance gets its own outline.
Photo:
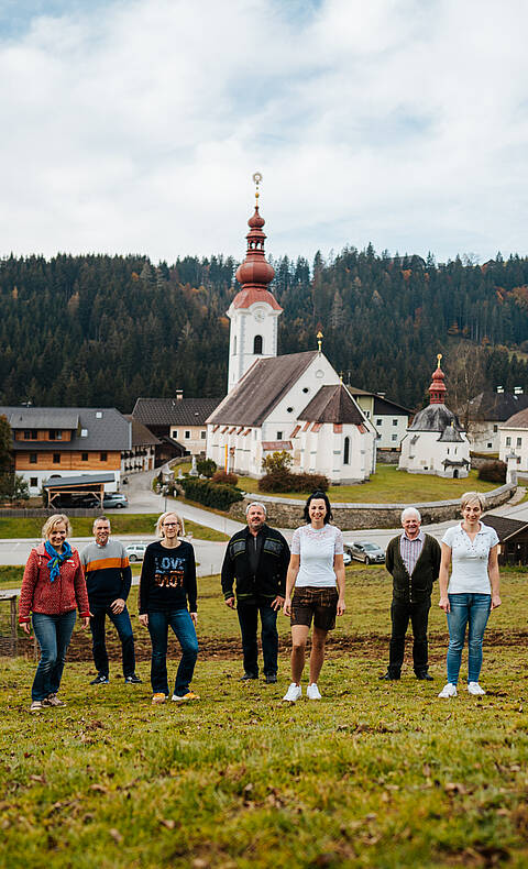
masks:
MULTIPOLYGON (((176 507, 177 509, 177 507, 176 507)), ((153 535, 158 514, 154 513, 120 513, 111 516, 112 535, 153 535)), ((70 519, 74 529, 74 537, 91 537, 91 529, 94 526, 92 517, 74 516, 70 519)), ((8 518, 0 518, 0 539, 10 539, 26 537, 38 540, 41 537, 41 529, 44 525, 42 518, 23 518, 13 516, 8 518)), ((191 534, 197 540, 229 540, 229 537, 221 531, 215 531, 212 528, 206 528, 205 525, 198 525, 189 520, 185 520, 186 534, 191 534)))

